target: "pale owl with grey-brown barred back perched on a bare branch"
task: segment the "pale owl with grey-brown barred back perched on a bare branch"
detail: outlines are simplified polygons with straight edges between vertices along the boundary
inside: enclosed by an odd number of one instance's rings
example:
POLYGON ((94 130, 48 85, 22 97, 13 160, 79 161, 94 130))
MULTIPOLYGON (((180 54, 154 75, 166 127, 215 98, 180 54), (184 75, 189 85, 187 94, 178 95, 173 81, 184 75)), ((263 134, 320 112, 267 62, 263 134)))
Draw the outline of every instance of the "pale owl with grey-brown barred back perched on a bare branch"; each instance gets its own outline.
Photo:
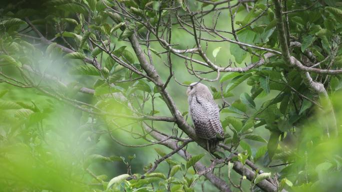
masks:
POLYGON ((208 87, 201 83, 191 83, 186 94, 196 135, 208 141, 207 148, 211 151, 218 141, 223 140, 224 134, 219 121, 218 106, 208 87))

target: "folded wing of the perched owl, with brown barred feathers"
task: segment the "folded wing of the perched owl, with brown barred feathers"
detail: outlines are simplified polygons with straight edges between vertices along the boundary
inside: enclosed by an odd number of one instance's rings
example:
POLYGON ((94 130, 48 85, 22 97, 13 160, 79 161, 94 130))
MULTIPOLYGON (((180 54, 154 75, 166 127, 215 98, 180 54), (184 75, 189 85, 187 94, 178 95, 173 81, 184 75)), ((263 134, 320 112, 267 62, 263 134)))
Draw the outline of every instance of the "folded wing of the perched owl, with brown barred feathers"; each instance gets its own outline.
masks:
POLYGON ((207 133, 210 138, 216 138, 217 134, 219 137, 223 137, 223 129, 221 122, 219 121, 219 110, 215 102, 210 101, 206 98, 195 96, 196 103, 198 103, 205 113, 204 121, 206 129, 209 130, 207 133))

